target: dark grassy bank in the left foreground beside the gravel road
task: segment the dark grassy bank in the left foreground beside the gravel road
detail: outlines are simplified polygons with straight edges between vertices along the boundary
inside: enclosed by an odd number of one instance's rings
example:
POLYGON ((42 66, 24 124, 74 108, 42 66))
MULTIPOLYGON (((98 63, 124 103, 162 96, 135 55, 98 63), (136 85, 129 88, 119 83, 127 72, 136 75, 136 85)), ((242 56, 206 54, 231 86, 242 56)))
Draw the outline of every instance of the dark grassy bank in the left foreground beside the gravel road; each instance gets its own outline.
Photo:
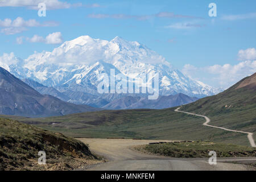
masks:
POLYGON ((0 118, 0 170, 72 169, 77 167, 75 159, 81 163, 94 156, 79 140, 0 118), (37 164, 39 151, 46 152, 46 166, 37 164))

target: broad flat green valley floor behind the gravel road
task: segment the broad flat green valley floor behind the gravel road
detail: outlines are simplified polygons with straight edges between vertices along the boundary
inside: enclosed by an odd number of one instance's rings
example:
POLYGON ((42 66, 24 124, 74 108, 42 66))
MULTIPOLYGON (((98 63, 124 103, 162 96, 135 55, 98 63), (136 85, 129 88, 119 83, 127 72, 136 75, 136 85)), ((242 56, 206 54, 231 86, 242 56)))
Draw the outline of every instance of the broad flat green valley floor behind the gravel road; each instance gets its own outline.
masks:
POLYGON ((204 118, 174 109, 108 110, 19 121, 72 137, 213 140, 249 145, 245 134, 203 126, 204 118))

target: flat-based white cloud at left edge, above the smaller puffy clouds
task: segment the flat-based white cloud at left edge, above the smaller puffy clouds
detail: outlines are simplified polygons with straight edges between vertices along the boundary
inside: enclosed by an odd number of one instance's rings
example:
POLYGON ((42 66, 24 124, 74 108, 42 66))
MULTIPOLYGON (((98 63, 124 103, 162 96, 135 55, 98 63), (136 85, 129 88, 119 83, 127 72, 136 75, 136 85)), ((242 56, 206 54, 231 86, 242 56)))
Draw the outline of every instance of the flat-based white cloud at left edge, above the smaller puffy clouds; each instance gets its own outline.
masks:
POLYGON ((43 22, 39 23, 35 19, 24 20, 22 17, 17 17, 14 20, 6 18, 4 20, 0 19, 1 33, 6 35, 18 34, 20 32, 26 31, 27 27, 53 27, 58 26, 57 22, 43 22))

